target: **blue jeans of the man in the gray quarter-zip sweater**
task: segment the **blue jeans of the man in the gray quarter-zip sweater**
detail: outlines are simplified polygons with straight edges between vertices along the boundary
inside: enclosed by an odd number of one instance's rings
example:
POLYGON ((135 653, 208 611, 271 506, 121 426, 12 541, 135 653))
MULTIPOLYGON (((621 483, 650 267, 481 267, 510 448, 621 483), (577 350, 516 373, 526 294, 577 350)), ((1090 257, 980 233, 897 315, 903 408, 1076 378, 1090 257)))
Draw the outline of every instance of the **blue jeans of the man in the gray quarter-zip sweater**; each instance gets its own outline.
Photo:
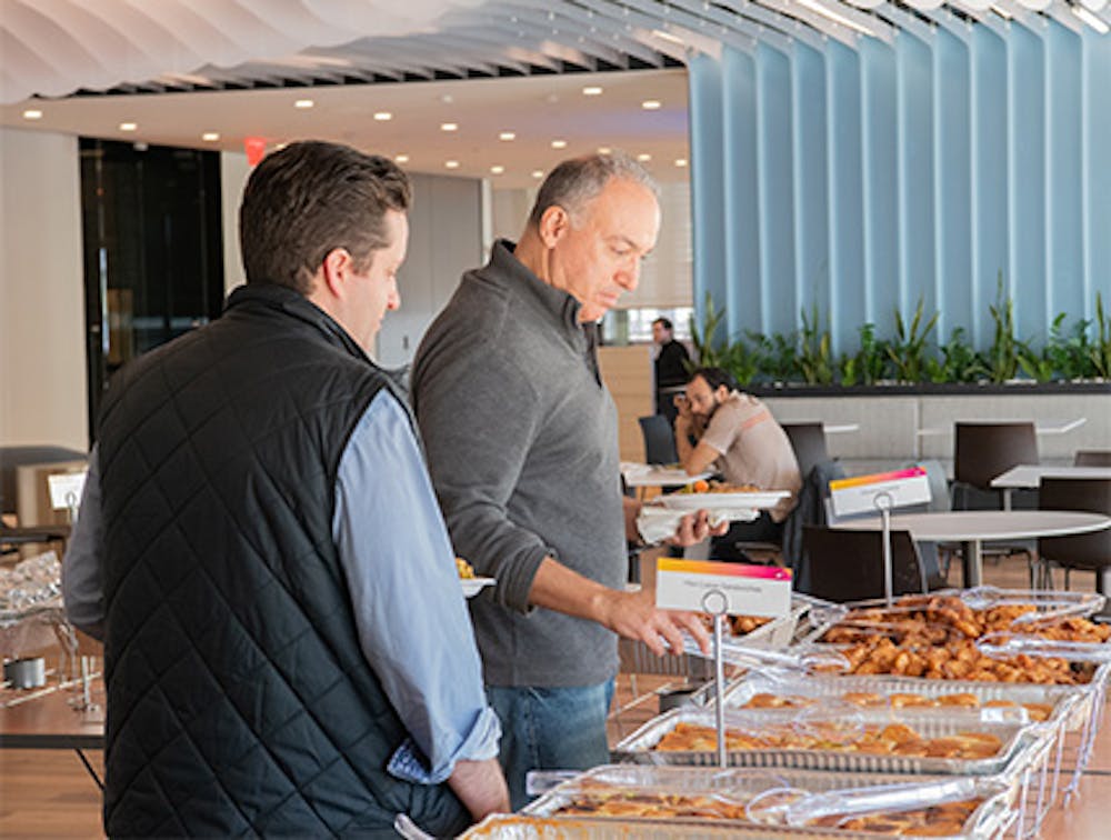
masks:
POLYGON ((487 686, 487 698, 501 720, 501 768, 517 811, 529 770, 587 770, 610 760, 605 718, 613 680, 573 688, 487 686))

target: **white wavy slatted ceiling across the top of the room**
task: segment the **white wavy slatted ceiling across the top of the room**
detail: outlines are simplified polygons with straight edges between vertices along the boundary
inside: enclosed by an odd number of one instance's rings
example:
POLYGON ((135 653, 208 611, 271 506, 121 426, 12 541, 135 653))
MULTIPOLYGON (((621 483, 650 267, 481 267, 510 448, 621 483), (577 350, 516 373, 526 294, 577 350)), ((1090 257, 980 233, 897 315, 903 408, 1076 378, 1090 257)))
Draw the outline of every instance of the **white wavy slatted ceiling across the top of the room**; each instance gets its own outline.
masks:
POLYGON ((0 0, 0 102, 113 92, 661 67, 722 43, 854 47, 1109 0, 0 0), (570 66, 570 67, 569 67, 570 66))

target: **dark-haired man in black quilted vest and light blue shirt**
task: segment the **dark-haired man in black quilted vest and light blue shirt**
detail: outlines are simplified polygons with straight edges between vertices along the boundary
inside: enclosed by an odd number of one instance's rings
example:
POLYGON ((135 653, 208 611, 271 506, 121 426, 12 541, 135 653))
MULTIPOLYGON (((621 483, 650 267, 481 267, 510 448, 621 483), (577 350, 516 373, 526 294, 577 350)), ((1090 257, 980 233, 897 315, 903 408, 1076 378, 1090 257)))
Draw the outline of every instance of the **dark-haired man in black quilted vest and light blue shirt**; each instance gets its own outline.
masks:
POLYGON ((508 809, 412 417, 368 357, 410 196, 353 149, 271 154, 247 284, 112 382, 64 564, 104 641, 110 836, 442 836, 508 809))

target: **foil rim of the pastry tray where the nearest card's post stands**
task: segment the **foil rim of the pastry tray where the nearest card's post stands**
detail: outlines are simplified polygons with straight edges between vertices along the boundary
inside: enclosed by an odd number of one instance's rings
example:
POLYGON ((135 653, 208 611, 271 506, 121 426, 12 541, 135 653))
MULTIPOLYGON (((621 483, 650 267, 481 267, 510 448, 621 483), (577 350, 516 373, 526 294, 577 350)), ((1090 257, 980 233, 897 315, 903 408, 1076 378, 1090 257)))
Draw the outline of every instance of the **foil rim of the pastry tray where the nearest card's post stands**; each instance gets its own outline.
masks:
MULTIPOLYGON (((743 722, 759 728, 764 723, 780 722, 770 716, 744 716, 743 722)), ((864 723, 880 722, 881 719, 862 717, 864 723)), ((890 717, 882 718, 890 721, 890 717)), ((1044 743, 1053 732, 1047 727, 1019 723, 989 723, 972 720, 969 716, 908 716, 901 719, 912 723, 927 738, 957 734, 961 731, 990 732, 1002 741, 999 753, 984 759, 945 759, 915 756, 872 754, 840 750, 732 750, 728 760, 730 767, 789 768, 798 770, 833 770, 838 772, 864 773, 939 773, 951 776, 987 776, 1014 773, 1019 766, 1025 767, 1033 753, 1044 752, 1044 743), (1011 767, 1011 764, 1014 767, 1011 767)), ((641 764, 670 764, 681 767, 712 767, 718 757, 713 751, 657 751, 655 744, 679 723, 713 727, 714 714, 704 709, 673 709, 653 718, 635 732, 617 744, 610 752, 614 761, 630 761, 641 764)), ((740 726, 737 712, 727 719, 727 728, 740 726)))

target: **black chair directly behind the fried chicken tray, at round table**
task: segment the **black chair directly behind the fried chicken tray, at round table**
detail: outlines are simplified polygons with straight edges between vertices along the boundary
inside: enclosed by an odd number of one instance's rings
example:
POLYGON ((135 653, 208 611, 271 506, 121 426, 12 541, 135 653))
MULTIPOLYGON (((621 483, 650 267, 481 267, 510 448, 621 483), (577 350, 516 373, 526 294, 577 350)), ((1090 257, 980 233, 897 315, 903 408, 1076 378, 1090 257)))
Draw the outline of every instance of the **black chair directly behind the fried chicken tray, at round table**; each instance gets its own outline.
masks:
MULTIPOLYGON (((829 601, 883 598, 883 533, 803 526, 802 551, 808 569, 805 594, 829 601)), ((891 532, 892 594, 928 592, 944 586, 919 557, 910 531, 891 532)))

